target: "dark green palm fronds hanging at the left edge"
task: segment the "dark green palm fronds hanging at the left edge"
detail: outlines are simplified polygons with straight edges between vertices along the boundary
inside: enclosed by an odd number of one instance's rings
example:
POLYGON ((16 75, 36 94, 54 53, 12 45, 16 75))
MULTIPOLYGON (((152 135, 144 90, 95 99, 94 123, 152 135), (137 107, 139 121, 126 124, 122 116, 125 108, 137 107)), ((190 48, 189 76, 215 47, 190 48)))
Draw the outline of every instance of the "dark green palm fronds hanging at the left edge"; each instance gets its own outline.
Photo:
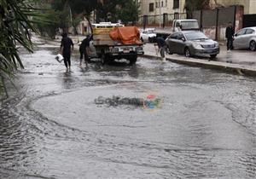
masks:
MULTIPOLYGON (((36 32, 31 19, 35 14, 33 2, 27 0, 0 1, 0 78, 13 77, 13 72, 23 68, 17 43, 32 52, 30 31, 36 32)), ((7 92, 7 91, 6 91, 7 92)))

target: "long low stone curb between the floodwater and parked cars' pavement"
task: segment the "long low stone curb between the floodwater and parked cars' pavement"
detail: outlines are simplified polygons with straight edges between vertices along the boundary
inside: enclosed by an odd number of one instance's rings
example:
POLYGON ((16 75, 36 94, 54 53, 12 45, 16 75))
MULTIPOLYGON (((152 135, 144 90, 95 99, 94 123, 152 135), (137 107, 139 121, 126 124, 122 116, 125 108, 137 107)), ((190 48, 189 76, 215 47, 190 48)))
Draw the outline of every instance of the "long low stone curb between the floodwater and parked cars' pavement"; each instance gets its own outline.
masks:
MULTIPOLYGON (((142 56, 150 59, 154 58, 154 59, 160 60, 160 57, 154 56, 154 55, 142 55, 142 56)), ((223 72, 232 72, 238 75, 247 75, 252 77, 256 76, 256 68, 251 68, 249 66, 241 66, 241 65, 232 64, 232 63, 225 63, 221 61, 204 61, 204 60, 186 58, 186 57, 181 57, 181 58, 166 57, 166 61, 172 61, 174 63, 183 64, 187 66, 199 66, 199 67, 219 70, 223 72)))

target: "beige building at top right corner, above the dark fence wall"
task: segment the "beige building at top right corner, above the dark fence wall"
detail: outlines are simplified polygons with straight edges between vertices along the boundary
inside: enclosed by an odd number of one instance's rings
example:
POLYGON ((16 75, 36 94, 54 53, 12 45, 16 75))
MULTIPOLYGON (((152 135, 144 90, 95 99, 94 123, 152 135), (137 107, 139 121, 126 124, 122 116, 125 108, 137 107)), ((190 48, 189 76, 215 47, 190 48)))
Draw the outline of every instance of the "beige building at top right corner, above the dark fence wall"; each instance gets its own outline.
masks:
POLYGON ((212 9, 232 5, 243 6, 244 14, 256 14, 256 0, 210 0, 212 9))

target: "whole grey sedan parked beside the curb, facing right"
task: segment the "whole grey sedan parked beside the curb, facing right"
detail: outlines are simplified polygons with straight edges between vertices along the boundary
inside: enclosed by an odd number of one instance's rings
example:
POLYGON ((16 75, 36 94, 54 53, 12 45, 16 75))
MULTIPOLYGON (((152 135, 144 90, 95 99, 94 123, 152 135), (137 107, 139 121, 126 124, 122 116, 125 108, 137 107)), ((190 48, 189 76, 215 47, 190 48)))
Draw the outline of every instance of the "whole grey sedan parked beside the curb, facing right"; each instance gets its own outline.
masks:
POLYGON ((185 56, 210 55, 215 58, 219 53, 218 42, 200 31, 174 32, 166 38, 166 44, 170 54, 185 56))

